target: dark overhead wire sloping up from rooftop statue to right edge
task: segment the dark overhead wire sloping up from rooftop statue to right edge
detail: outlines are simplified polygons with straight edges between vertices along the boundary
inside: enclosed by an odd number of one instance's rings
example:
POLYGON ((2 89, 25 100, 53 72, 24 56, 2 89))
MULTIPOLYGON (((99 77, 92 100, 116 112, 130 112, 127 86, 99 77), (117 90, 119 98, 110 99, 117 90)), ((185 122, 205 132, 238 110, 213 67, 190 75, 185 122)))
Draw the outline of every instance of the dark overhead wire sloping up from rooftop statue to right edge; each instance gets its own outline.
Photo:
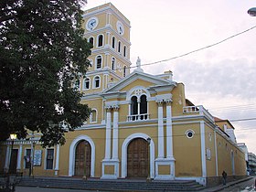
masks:
MULTIPOLYGON (((244 31, 241 31, 240 33, 237 33, 237 34, 235 34, 235 35, 233 35, 233 36, 224 38, 224 39, 222 39, 222 40, 220 40, 220 41, 218 41, 218 42, 216 42, 216 43, 213 43, 213 44, 211 44, 211 45, 208 45, 208 46, 206 46, 206 47, 197 48, 197 49, 195 49, 195 50, 192 50, 192 51, 189 51, 189 52, 187 52, 187 53, 184 53, 184 54, 175 56, 175 57, 170 58, 170 59, 158 60, 158 61, 155 61, 155 62, 152 62, 152 63, 144 63, 144 64, 141 64, 141 66, 155 65, 155 64, 157 64, 157 63, 162 63, 162 62, 165 62, 165 61, 169 61, 169 60, 173 60, 173 59, 178 59, 178 58, 185 57, 185 56, 187 56, 187 55, 190 55, 190 54, 192 54, 192 53, 198 52, 198 51, 200 51, 200 50, 204 50, 204 49, 206 49, 206 48, 211 48, 211 47, 217 46, 217 45, 219 45, 219 44, 221 44, 221 43, 223 43, 223 42, 229 40, 230 38, 240 36, 241 34, 244 34, 244 33, 248 32, 248 31, 252 30, 252 29, 255 28, 255 27, 256 27, 256 26, 253 26, 253 27, 251 27, 251 28, 248 28, 248 29, 246 29, 246 30, 244 30, 244 31)), ((129 69, 132 69, 132 68, 136 68, 136 66, 129 67, 129 69)))

